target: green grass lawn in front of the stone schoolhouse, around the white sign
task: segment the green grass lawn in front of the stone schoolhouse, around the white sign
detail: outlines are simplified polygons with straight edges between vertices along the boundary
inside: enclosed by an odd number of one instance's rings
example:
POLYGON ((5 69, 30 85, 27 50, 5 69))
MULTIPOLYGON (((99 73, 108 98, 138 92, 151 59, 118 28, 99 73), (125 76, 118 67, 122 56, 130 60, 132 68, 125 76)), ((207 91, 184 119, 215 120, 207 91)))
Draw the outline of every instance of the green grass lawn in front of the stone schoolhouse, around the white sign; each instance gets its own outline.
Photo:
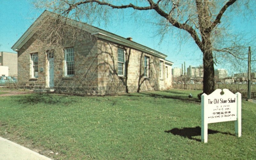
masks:
POLYGON ((255 159, 256 104, 242 101, 241 138, 212 123, 202 143, 199 92, 0 97, 0 135, 54 159, 255 159))

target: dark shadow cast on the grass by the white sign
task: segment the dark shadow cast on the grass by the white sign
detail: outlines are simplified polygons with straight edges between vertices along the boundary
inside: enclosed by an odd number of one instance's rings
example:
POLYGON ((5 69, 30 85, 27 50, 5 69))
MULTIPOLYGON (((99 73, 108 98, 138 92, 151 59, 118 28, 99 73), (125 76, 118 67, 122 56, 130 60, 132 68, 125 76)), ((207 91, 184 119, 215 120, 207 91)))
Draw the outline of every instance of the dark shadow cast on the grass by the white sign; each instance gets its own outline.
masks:
MULTIPOLYGON (((194 136, 201 136, 201 127, 199 127, 199 126, 197 126, 195 128, 182 128, 182 129, 174 128, 171 130, 166 130, 164 132, 172 133, 173 135, 178 135, 178 136, 182 136, 182 137, 185 137, 188 139, 192 139, 192 140, 201 142, 201 139, 193 138, 194 136)), ((208 129, 208 134, 215 134, 215 133, 221 133, 221 134, 225 134, 225 135, 235 136, 234 134, 231 134, 229 132, 219 132, 216 130, 208 129)))

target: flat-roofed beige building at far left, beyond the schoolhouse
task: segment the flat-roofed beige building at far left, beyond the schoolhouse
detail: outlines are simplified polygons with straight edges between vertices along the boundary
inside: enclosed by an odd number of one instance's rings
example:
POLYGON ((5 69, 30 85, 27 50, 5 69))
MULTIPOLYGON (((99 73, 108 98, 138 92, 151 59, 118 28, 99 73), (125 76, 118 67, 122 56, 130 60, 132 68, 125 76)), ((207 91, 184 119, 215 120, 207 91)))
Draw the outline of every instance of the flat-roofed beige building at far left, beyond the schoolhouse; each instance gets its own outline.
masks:
MULTIPOLYGON (((18 54, 11 52, 0 52, 0 66, 8 66, 8 75, 17 76, 18 75, 18 54)), ((7 68, 7 67, 2 67, 7 68)), ((7 74, 6 71, 5 75, 7 74)), ((0 75, 1 76, 1 75, 0 75)))

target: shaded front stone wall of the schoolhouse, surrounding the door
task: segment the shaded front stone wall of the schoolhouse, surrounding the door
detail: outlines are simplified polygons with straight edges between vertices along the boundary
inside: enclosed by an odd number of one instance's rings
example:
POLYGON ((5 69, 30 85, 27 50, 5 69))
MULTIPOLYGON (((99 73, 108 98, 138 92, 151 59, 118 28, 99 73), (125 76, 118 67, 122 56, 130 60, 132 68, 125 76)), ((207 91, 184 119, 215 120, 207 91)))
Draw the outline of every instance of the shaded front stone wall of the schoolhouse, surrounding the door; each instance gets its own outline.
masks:
MULTIPOLYGON (((98 94, 97 40, 81 32, 81 38, 66 41, 65 46, 51 46, 40 41, 35 34, 18 53, 18 78, 20 88, 44 89, 47 86, 47 50, 54 50, 54 89, 58 92, 98 94), (64 75, 64 48, 74 47, 75 75, 64 75), (30 75, 30 55, 38 53, 38 78, 30 75), (96 89, 95 89, 96 88, 96 89)), ((68 36, 67 36, 68 39, 68 36)))

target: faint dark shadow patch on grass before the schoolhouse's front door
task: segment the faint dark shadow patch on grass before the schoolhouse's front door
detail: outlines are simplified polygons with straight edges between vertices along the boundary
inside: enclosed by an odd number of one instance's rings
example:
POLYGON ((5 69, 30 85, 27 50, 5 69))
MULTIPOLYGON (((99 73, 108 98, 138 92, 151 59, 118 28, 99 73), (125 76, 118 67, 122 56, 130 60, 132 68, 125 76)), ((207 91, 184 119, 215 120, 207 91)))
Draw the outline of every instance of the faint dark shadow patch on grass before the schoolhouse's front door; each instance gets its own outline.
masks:
POLYGON ((26 96, 19 97, 18 101, 23 104, 69 104, 72 102, 71 99, 67 99, 67 96, 54 96, 53 94, 47 93, 35 93, 26 96))

